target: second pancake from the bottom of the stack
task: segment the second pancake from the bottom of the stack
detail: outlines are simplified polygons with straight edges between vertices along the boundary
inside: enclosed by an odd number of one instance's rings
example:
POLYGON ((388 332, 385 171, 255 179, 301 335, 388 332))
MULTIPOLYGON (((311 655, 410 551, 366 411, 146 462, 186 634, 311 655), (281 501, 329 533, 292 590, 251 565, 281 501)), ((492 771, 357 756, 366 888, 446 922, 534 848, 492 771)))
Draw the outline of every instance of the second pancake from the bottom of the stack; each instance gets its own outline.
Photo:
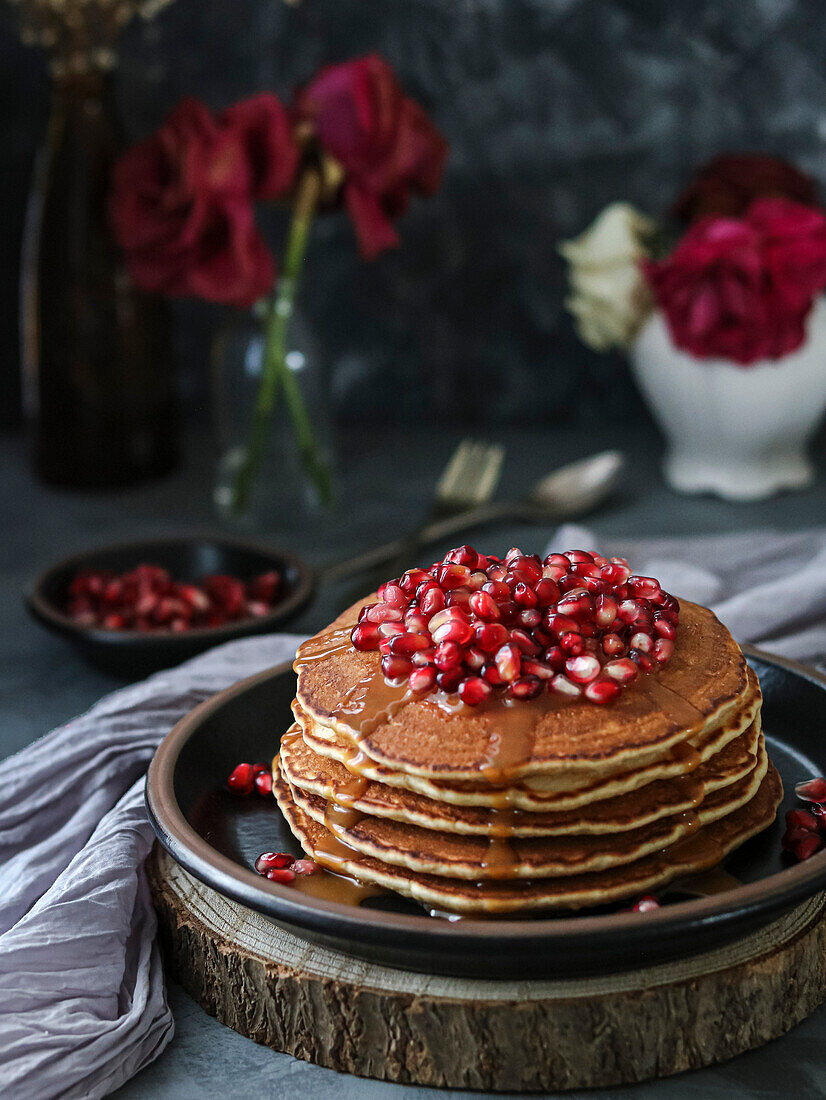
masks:
POLYGON ((290 787, 293 802, 315 822, 324 825, 349 848, 384 864, 423 875, 470 879, 536 879, 602 871, 634 862, 675 844, 698 828, 739 810, 757 793, 767 769, 766 749, 759 747, 751 772, 709 794, 694 810, 661 817, 648 825, 612 835, 513 837, 421 828, 390 818, 349 811, 330 812, 317 794, 290 787))

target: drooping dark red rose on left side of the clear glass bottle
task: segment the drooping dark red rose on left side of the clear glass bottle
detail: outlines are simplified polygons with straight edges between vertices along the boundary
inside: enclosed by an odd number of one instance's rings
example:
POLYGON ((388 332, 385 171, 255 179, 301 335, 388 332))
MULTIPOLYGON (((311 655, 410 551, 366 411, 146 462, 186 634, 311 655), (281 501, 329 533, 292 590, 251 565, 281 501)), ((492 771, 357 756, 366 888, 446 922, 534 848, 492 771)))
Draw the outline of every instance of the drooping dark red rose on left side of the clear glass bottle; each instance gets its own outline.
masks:
POLYGON ((288 186, 297 151, 280 105, 279 118, 273 97, 254 99, 221 120, 185 99, 115 165, 112 224, 137 286, 240 307, 272 288, 275 264, 252 202, 288 186))

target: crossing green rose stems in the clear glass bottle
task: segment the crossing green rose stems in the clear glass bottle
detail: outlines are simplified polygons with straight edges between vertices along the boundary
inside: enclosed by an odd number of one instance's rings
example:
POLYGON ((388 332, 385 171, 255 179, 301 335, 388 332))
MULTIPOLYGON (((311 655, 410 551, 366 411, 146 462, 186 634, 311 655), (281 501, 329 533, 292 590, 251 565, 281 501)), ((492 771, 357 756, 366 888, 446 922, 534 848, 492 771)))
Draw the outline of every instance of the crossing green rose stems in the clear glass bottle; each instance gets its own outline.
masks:
POLYGON ((276 283, 274 300, 271 302, 268 312, 264 345, 264 372, 255 402, 246 455, 239 466, 233 486, 233 508, 236 513, 243 513, 246 508, 252 481, 261 464, 266 446, 269 420, 279 385, 284 389, 301 464, 316 486, 320 501, 323 504, 329 504, 332 499, 332 480, 329 466, 318 453, 301 387, 293 371, 287 366, 287 330, 293 316, 301 264, 320 194, 321 178, 315 169, 310 168, 304 173, 298 183, 284 268, 276 283))

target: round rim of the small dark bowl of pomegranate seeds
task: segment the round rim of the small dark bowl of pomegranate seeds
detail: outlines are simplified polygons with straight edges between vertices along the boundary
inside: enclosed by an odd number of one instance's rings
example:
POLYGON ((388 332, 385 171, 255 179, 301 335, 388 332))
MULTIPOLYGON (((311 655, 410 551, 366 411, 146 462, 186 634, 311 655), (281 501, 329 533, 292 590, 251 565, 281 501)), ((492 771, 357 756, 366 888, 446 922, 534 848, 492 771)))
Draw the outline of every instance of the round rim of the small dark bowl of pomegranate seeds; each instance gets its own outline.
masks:
POLYGON ((181 647, 192 641, 210 641, 216 645, 221 641, 236 637, 239 631, 244 634, 254 629, 261 634, 267 627, 277 626, 289 616, 299 612, 309 603, 316 590, 316 573, 311 565, 302 558, 282 550, 279 547, 262 546, 250 542, 246 539, 238 539, 223 535, 158 535, 156 538, 126 539, 119 542, 108 542, 106 546, 95 547, 91 550, 80 551, 70 554, 68 558, 55 562, 45 569, 34 581, 31 590, 25 596, 25 604, 31 615, 44 626, 86 642, 97 642, 107 646, 130 646, 155 648, 158 644, 165 646, 178 645, 181 647), (60 573, 68 570, 82 569, 88 565, 93 568, 96 559, 101 554, 134 551, 140 553, 141 547, 156 546, 216 546, 243 553, 256 554, 261 558, 268 558, 273 564, 284 566, 295 578, 295 585, 290 594, 278 603, 267 615, 260 618, 239 619, 235 623, 228 623, 225 626, 196 627, 181 634, 172 631, 141 631, 141 630, 104 630, 102 627, 88 627, 76 623, 68 615, 64 614, 59 607, 45 595, 49 583, 60 573))

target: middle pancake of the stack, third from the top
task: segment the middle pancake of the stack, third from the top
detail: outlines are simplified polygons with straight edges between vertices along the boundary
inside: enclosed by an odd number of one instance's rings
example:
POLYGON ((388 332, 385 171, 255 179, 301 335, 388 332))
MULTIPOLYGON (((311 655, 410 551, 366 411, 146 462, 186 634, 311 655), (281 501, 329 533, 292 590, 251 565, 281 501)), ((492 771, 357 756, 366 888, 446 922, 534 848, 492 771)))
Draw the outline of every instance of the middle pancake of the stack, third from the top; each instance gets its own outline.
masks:
MULTIPOLYGON (((533 813, 505 810, 511 836, 618 833, 647 825, 669 814, 694 809, 708 794, 736 783, 757 763, 759 718, 691 777, 657 780, 627 794, 585 803, 573 810, 533 813)), ((491 836, 502 823, 497 807, 455 805, 390 785, 387 780, 354 783, 352 772, 339 760, 321 756, 294 726, 283 738, 282 768, 293 788, 375 817, 449 833, 491 836)), ((378 767, 378 766, 377 766, 378 767)))

